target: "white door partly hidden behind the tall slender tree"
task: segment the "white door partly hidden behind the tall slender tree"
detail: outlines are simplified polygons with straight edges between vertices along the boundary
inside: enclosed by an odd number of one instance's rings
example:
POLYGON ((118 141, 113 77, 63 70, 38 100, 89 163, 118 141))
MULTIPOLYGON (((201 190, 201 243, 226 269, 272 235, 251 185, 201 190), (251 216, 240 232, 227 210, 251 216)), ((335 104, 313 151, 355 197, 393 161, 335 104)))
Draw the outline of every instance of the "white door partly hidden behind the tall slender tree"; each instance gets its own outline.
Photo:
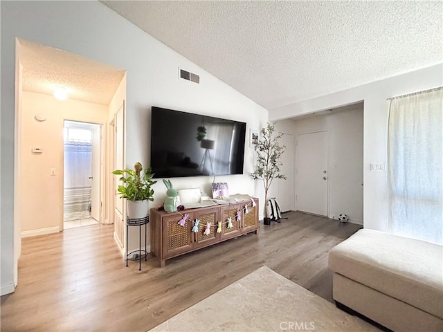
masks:
POLYGON ((286 149, 284 150, 284 153, 282 154, 282 167, 280 168, 282 174, 284 174, 287 179, 284 180, 282 178, 279 178, 278 181, 278 196, 277 201, 280 205, 280 210, 282 212, 285 211, 291 211, 294 209, 294 202, 296 195, 294 193, 293 188, 293 181, 291 179, 293 178, 293 162, 294 162, 294 140, 293 135, 290 133, 283 133, 282 137, 280 138, 280 144, 284 145, 286 149))

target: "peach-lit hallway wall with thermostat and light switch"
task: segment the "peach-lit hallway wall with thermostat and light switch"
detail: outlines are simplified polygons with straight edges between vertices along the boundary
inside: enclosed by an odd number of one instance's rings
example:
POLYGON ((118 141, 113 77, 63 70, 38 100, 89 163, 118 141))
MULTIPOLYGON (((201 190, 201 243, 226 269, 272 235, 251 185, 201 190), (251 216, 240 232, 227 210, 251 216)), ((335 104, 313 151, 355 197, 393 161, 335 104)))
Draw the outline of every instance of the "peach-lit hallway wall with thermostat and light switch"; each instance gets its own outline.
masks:
POLYGON ((105 105, 21 91, 17 210, 22 237, 58 232, 63 221, 64 120, 106 123, 107 118, 105 105), (35 114, 44 115, 46 121, 35 120, 35 114), (33 147, 43 153, 33 154, 33 147), (55 176, 50 175, 51 168, 55 176))

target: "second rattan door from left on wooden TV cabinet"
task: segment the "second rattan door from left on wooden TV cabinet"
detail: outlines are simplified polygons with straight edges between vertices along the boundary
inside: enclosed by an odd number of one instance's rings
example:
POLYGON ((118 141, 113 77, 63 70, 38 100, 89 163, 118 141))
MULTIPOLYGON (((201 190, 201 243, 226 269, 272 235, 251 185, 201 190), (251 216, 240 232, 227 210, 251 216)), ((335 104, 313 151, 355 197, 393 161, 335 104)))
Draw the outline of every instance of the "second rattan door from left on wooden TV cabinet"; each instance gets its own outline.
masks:
POLYGON ((204 211, 196 211, 195 219, 199 219, 199 231, 193 233, 195 236, 194 248, 210 246, 219 241, 217 233, 218 222, 220 220, 219 208, 206 209, 204 211), (207 223, 210 223, 210 232, 204 234, 207 223))

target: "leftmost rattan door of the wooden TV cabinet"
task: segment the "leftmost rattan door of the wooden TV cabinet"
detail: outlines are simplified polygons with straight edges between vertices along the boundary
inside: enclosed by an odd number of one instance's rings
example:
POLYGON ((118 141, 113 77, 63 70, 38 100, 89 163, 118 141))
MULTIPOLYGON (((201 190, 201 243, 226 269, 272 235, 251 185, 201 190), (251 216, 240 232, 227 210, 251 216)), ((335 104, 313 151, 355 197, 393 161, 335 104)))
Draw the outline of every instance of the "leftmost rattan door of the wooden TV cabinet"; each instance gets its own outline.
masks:
POLYGON ((190 213, 189 219, 184 226, 179 225, 181 214, 174 213, 170 216, 163 216, 163 259, 181 255, 192 250, 193 232, 192 221, 194 215, 190 213))

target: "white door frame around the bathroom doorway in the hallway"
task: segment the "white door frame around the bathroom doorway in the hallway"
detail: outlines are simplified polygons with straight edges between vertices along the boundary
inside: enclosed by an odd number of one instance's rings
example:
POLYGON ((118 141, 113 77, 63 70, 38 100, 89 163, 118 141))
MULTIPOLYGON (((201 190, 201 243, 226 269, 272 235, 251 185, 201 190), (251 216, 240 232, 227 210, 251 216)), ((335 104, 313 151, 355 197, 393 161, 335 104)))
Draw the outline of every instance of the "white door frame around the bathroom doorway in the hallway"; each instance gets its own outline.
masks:
MULTIPOLYGON (((105 194, 105 181, 103 181, 105 179, 105 160, 106 160, 106 149, 105 149, 105 141, 107 138, 107 123, 106 122, 96 122, 96 121, 89 121, 89 120, 82 120, 82 119, 78 119, 78 118, 63 118, 63 128, 64 128, 64 122, 65 121, 72 121, 72 122, 80 122, 80 123, 87 123, 87 124, 97 124, 101 127, 100 129, 100 186, 99 186, 99 190, 100 190, 100 208, 99 208, 99 217, 98 217, 98 222, 99 223, 103 223, 103 217, 105 216, 105 208, 106 208, 106 201, 104 199, 104 194, 105 194)), ((63 140, 64 138, 62 138, 63 140)), ((62 173, 62 178, 64 181, 64 158, 63 158, 63 167, 61 170, 62 173)), ((64 188, 64 186, 63 186, 64 188)), ((63 199, 64 199, 64 190, 62 192, 62 205, 63 205, 63 199)), ((64 230, 64 218, 62 216, 62 219, 60 221, 60 232, 62 232, 64 230)))

